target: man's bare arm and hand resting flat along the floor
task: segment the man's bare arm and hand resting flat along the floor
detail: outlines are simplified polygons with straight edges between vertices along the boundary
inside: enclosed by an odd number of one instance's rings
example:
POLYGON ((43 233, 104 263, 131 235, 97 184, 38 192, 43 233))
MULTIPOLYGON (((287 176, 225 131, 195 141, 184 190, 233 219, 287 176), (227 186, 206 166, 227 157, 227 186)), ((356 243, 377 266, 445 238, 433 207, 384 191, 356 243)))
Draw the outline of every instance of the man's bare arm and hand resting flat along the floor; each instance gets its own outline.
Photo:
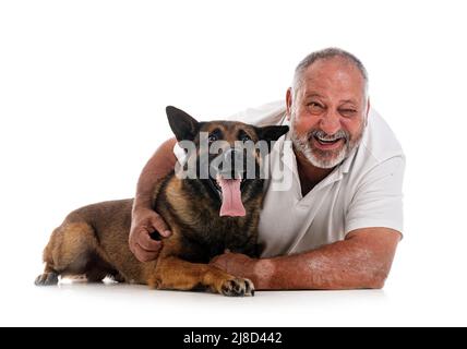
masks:
POLYGON ((253 260, 223 254, 212 263, 238 277, 250 278, 256 289, 382 288, 400 240, 388 228, 351 231, 344 241, 313 251, 274 258, 253 260))

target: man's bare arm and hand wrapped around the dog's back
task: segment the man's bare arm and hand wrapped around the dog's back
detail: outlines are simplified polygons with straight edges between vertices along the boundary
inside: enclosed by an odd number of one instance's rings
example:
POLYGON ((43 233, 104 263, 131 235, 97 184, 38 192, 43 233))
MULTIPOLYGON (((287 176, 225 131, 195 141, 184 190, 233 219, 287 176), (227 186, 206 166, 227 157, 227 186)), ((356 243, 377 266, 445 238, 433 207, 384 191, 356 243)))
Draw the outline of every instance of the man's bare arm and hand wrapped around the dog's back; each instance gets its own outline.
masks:
POLYGON ((158 231, 164 237, 170 234, 164 219, 154 212, 152 200, 156 183, 175 167, 177 158, 173 154, 173 146, 176 142, 176 139, 167 140, 157 148, 143 168, 137 181, 129 244, 130 250, 141 262, 155 260, 160 250, 160 242, 151 239, 152 232, 158 231))

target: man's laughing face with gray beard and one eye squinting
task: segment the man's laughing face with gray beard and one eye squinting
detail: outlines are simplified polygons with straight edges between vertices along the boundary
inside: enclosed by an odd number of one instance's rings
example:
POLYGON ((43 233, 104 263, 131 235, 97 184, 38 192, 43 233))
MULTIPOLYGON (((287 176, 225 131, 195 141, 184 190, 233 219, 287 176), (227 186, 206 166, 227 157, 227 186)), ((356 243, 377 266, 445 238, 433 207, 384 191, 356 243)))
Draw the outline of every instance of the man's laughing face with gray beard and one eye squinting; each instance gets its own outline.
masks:
POLYGON ((360 71, 343 58, 318 60, 287 93, 295 149, 319 168, 333 168, 359 145, 369 104, 360 71))

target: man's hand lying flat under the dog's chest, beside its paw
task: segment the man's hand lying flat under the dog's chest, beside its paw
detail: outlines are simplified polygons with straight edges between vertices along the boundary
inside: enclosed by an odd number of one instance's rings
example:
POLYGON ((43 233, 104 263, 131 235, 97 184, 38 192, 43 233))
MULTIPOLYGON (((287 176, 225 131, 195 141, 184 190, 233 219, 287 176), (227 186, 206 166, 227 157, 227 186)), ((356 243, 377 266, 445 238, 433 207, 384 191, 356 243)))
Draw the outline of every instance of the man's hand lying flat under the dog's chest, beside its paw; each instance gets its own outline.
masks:
POLYGON ((215 256, 209 264, 236 277, 248 278, 256 285, 256 262, 258 260, 251 258, 246 254, 226 252, 215 256))

